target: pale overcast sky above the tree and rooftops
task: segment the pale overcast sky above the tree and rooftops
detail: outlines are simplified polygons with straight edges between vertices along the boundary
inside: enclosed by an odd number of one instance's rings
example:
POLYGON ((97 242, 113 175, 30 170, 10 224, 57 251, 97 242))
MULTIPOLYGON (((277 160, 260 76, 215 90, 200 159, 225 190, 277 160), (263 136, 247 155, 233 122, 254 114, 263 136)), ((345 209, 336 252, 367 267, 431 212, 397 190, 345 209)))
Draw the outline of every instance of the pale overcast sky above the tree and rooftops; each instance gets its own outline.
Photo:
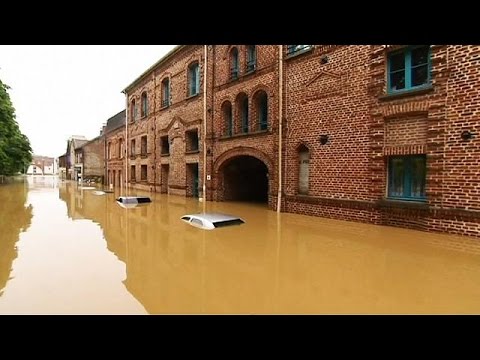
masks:
POLYGON ((93 139, 125 109, 121 92, 175 45, 0 45, 0 79, 35 155, 58 157, 71 135, 93 139))

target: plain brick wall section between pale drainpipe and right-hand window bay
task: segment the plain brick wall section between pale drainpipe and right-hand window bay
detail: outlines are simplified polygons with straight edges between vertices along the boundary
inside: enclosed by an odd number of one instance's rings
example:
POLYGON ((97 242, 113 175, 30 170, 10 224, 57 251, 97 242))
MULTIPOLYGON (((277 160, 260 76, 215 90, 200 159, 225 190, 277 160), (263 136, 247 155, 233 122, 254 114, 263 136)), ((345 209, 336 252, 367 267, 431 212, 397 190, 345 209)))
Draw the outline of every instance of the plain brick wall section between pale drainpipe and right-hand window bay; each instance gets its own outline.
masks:
MULTIPOLYGON (((369 46, 318 47, 285 61, 285 194, 298 193, 298 149, 310 153, 308 195, 372 200, 369 46), (322 63, 323 59, 328 59, 322 63), (320 136, 327 135, 322 145, 320 136)), ((323 60, 325 61, 325 60, 323 60)), ((287 204, 287 211, 294 210, 287 204)), ((324 210, 312 208, 312 214, 324 210)))

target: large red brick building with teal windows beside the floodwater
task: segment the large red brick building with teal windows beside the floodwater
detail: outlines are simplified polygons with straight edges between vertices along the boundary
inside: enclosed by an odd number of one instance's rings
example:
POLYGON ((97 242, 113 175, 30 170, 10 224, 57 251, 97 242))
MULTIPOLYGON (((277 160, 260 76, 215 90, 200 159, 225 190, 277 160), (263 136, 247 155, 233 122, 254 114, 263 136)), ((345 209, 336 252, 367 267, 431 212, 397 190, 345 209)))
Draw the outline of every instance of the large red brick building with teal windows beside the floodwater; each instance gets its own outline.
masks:
POLYGON ((129 179, 480 236, 479 61, 480 46, 176 47, 125 89, 129 179))

